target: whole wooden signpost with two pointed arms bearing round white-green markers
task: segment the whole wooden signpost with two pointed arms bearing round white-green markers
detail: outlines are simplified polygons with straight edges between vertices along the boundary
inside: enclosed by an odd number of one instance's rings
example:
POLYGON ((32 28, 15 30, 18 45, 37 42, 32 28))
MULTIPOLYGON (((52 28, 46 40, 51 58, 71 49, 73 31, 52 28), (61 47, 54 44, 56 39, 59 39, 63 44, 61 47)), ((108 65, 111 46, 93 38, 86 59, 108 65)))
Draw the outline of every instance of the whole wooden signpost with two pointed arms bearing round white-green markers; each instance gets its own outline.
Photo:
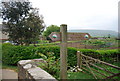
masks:
POLYGON ((67 79, 67 41, 87 40, 88 33, 67 33, 67 25, 60 25, 60 32, 52 32, 49 37, 52 41, 61 41, 60 44, 60 79, 67 79))

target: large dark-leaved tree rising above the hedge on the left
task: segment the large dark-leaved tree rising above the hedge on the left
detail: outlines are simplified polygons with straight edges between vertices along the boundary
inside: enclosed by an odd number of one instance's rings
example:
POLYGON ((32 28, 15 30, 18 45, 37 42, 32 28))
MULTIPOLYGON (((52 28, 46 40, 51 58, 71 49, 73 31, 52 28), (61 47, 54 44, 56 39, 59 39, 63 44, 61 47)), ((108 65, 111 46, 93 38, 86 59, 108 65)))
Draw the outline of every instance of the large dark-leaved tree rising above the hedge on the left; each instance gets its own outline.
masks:
POLYGON ((43 32, 45 24, 37 8, 30 2, 2 3, 3 31, 10 40, 18 44, 29 45, 43 32))

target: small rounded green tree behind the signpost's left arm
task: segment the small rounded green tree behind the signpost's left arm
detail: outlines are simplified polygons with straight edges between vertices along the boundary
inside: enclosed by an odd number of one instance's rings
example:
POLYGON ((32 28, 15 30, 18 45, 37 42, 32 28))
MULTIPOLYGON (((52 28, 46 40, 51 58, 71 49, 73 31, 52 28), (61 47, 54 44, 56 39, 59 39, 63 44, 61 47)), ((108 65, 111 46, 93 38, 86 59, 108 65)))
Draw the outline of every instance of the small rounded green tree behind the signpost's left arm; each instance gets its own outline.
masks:
POLYGON ((46 31, 43 32, 43 35, 49 40, 50 38, 48 36, 52 32, 60 32, 60 27, 58 27, 57 25, 50 25, 47 27, 46 31))

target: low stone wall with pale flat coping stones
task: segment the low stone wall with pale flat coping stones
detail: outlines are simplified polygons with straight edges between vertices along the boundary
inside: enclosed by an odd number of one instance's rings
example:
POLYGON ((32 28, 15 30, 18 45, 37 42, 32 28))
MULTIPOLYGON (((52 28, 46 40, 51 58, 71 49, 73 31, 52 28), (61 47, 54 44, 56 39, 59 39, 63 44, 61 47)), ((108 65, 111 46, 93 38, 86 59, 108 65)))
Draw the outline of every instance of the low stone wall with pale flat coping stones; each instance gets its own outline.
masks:
POLYGON ((21 60, 18 62, 18 81, 57 81, 49 73, 37 66, 42 59, 21 60))

